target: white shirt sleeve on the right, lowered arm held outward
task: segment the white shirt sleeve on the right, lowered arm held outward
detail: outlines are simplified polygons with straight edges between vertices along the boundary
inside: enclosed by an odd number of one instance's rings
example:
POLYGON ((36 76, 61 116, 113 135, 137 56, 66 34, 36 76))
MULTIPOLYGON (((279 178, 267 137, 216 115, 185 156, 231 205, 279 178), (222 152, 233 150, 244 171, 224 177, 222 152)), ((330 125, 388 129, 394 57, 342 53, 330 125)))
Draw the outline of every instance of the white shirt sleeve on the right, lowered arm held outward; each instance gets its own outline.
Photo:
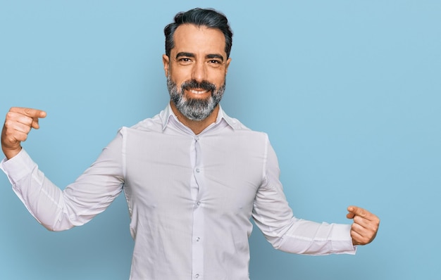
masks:
POLYGON ((253 218, 266 239, 278 250, 305 255, 354 254, 349 224, 328 224, 297 219, 279 181, 278 160, 267 146, 263 184, 256 194, 253 218))

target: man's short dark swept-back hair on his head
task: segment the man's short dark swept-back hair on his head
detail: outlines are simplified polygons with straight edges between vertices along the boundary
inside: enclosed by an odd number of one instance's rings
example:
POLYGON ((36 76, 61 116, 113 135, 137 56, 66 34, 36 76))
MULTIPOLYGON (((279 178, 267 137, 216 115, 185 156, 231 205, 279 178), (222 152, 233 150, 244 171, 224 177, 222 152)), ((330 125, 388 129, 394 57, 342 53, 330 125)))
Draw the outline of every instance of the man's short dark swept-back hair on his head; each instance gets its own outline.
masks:
POLYGON ((164 28, 164 34, 166 35, 166 55, 168 57, 170 57, 171 49, 175 47, 173 35, 175 34, 176 28, 186 23, 221 30, 225 36, 225 53, 227 53, 227 58, 230 57, 232 31, 230 25, 228 25, 228 19, 223 13, 212 8, 194 8, 190 11, 180 12, 175 15, 175 22, 170 23, 164 28))

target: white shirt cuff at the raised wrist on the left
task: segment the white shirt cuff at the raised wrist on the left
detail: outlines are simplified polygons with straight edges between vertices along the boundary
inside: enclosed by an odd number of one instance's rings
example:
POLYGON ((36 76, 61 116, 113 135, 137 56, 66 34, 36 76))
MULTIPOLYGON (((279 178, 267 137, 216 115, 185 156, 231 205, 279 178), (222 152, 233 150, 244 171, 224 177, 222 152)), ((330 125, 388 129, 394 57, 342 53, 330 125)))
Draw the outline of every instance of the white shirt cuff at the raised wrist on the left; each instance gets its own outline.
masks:
POLYGON ((13 158, 8 160, 4 158, 0 162, 0 169, 3 170, 13 185, 32 172, 35 166, 36 164, 32 158, 30 158, 30 155, 27 154, 24 148, 22 148, 21 151, 13 158))

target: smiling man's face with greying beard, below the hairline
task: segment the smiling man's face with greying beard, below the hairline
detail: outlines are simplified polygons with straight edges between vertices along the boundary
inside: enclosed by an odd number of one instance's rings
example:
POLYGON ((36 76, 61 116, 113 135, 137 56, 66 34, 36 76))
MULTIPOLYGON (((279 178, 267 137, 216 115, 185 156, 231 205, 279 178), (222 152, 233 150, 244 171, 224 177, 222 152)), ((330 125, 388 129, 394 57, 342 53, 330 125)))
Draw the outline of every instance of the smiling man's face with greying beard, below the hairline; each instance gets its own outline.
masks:
POLYGON ((174 106, 189 120, 204 120, 221 101, 230 58, 220 30, 180 25, 170 58, 163 55, 174 106))

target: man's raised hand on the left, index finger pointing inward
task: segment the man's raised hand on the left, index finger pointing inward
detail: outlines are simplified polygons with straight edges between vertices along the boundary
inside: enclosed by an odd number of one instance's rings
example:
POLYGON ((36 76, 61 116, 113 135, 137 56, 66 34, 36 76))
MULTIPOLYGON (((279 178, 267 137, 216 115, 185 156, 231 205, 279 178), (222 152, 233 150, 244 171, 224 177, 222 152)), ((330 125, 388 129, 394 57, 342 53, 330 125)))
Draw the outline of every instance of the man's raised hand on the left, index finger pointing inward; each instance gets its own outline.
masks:
POLYGON ((27 139, 30 129, 39 129, 40 117, 46 117, 46 112, 20 107, 13 107, 9 110, 1 131, 1 149, 7 159, 20 153, 21 142, 27 139))

